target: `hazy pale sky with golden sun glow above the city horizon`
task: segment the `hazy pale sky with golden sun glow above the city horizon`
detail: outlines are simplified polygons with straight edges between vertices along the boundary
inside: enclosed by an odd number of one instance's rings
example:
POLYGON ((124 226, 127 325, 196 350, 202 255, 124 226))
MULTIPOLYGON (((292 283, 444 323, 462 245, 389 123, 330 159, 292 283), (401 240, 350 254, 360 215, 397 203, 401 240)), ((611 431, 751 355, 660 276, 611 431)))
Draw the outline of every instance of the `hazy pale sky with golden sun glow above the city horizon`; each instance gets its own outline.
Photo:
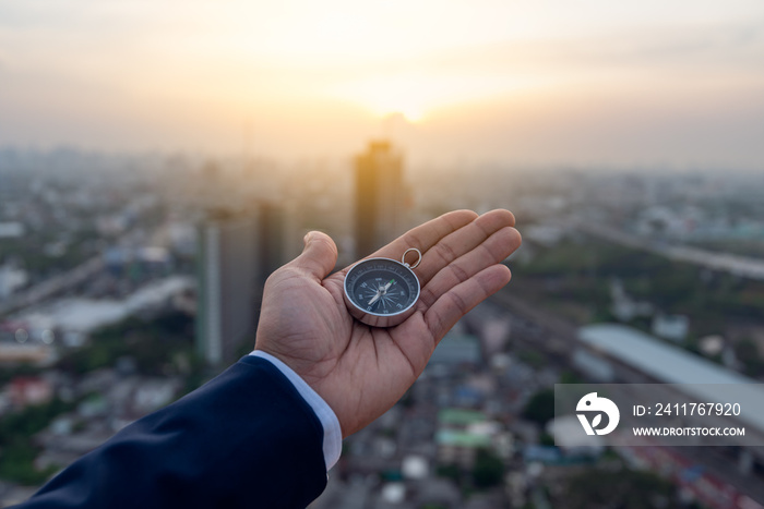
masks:
POLYGON ((764 168, 761 0, 7 0, 0 146, 764 168))

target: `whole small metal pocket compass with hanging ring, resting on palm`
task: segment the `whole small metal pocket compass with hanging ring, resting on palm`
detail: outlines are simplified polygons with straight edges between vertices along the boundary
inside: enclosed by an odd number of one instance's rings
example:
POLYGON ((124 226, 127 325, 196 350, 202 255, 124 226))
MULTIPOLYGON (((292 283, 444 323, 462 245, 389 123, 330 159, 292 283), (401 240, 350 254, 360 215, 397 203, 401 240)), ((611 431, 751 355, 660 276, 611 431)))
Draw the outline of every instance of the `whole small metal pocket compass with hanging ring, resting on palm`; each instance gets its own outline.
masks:
POLYGON ((406 250, 401 262, 390 258, 367 258, 350 267, 345 276, 345 304, 353 316, 373 327, 398 325, 411 313, 419 299, 419 279, 414 270, 421 262, 421 252, 406 250), (416 253, 414 265, 406 255, 416 253))

